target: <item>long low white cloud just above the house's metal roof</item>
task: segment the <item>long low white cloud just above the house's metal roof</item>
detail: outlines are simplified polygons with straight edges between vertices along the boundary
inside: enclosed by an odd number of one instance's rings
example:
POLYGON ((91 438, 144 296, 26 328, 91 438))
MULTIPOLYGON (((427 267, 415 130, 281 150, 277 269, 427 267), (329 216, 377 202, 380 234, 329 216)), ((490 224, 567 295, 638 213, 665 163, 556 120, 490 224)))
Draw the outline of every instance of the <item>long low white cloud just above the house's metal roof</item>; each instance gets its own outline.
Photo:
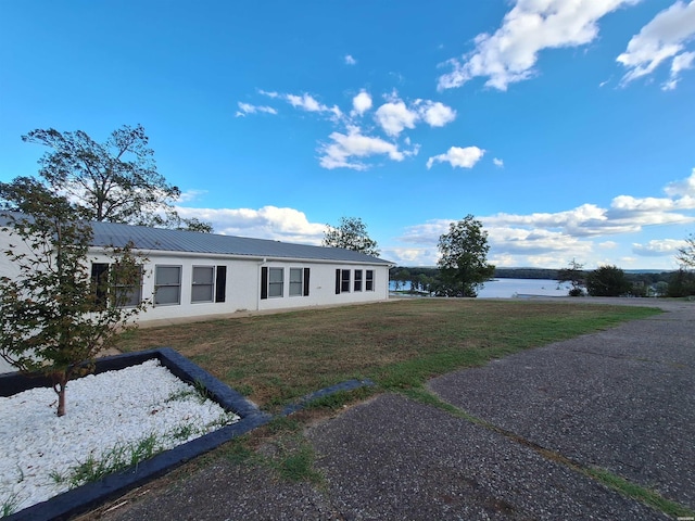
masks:
POLYGON ((177 206, 181 217, 197 217, 213 224, 215 233, 320 244, 326 225, 309 223, 294 208, 191 208, 177 206))

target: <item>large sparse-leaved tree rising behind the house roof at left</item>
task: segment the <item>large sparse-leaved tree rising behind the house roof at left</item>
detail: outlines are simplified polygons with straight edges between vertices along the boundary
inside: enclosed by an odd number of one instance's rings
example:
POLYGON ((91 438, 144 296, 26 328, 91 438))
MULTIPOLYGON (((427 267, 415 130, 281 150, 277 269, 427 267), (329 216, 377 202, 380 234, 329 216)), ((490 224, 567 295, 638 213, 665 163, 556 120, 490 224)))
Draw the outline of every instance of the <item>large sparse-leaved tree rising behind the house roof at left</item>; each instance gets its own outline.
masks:
MULTIPOLYGON (((75 201, 92 220, 166 228, 186 228, 173 206, 180 190, 157 173, 154 152, 148 148, 144 128, 127 125, 103 143, 86 132, 31 130, 22 140, 51 149, 39 165, 39 176, 54 192, 75 201)), ((195 231, 212 225, 190 220, 195 231)))

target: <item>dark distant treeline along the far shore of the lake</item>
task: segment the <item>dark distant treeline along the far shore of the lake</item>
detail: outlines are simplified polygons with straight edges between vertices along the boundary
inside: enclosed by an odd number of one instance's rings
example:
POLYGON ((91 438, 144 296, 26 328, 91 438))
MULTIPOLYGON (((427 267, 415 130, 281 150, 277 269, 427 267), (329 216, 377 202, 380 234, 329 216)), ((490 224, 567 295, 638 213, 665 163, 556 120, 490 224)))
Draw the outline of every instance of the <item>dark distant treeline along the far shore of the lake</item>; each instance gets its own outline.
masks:
MULTIPOLYGON (((495 268, 495 279, 549 279, 558 280, 559 269, 546 268, 495 268)), ((587 274, 590 270, 585 270, 587 274)), ((391 268, 391 280, 409 282, 414 280, 425 280, 425 278, 435 279, 439 268, 435 267, 408 267, 396 266, 391 268)), ((673 277, 673 271, 626 271, 626 278, 630 282, 643 282, 645 284, 656 284, 657 282, 669 282, 673 277)))

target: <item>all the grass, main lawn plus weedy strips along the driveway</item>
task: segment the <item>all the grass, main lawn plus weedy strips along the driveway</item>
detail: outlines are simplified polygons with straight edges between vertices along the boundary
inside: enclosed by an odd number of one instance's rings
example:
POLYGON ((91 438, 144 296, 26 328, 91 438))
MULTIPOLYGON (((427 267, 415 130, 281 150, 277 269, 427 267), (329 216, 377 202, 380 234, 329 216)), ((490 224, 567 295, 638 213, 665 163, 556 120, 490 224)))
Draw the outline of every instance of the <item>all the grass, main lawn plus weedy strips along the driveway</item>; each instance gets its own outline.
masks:
MULTIPOLYGON (((345 380, 374 380, 376 389, 320 398, 290 418, 277 417, 232 440, 212 456, 238 465, 264 465, 282 479, 320 484, 312 447, 302 435, 304 425, 316 418, 393 390, 496 429, 443 403, 424 389, 425 382, 455 369, 658 313, 648 307, 582 305, 579 301, 422 298, 139 329, 124 334, 118 348, 173 347, 269 411, 345 380)), ((567 465, 574 468, 573 462, 567 465)), ((690 514, 690 510, 607 471, 576 470, 671 516, 690 514)))

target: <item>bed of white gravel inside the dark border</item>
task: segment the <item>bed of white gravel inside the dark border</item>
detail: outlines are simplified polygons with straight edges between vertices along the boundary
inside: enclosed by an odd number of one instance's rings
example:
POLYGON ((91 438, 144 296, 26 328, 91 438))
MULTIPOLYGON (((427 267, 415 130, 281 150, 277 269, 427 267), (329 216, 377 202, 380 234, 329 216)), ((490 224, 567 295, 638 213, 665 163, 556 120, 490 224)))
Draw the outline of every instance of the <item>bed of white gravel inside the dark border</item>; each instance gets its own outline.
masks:
POLYGON ((90 456, 102 460, 150 435, 166 450, 239 421, 156 359, 68 382, 61 418, 56 401, 51 387, 0 397, 0 516, 66 492, 68 480, 55 476, 90 456))

